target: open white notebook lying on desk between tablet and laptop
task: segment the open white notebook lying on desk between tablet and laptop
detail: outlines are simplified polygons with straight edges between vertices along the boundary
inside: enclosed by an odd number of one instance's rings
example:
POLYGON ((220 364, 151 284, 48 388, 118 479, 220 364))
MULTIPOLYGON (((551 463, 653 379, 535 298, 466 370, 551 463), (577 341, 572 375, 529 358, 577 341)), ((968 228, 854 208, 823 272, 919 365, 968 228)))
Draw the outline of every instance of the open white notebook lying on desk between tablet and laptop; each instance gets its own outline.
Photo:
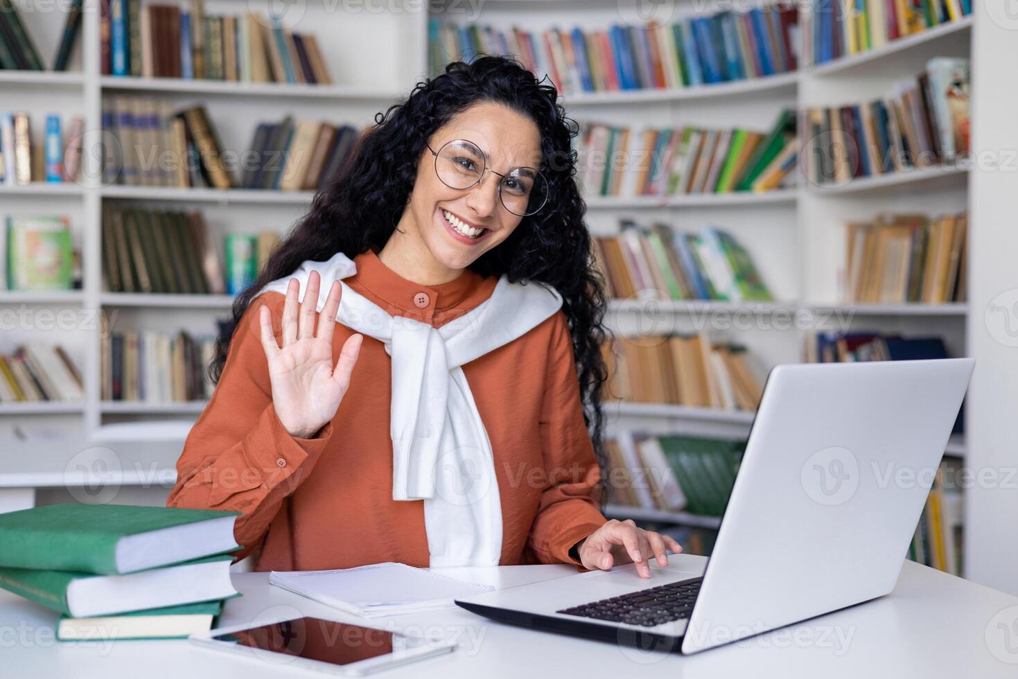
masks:
POLYGON ((393 562, 337 570, 274 570, 269 583, 365 618, 447 608, 458 597, 495 589, 393 562))

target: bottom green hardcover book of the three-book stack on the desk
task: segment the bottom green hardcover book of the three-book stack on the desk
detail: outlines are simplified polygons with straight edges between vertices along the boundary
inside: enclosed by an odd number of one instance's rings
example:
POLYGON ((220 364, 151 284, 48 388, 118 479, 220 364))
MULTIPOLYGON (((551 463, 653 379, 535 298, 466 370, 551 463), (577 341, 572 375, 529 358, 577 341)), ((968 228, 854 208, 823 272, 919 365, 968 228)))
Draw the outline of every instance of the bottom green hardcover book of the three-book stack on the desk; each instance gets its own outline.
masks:
MULTIPOLYGON (((239 597, 237 592, 235 597, 239 597)), ((233 599, 233 597, 230 597, 233 599)), ((164 606, 109 616, 57 621, 60 641, 105 641, 108 639, 180 639, 212 629, 223 611, 223 600, 164 606)))

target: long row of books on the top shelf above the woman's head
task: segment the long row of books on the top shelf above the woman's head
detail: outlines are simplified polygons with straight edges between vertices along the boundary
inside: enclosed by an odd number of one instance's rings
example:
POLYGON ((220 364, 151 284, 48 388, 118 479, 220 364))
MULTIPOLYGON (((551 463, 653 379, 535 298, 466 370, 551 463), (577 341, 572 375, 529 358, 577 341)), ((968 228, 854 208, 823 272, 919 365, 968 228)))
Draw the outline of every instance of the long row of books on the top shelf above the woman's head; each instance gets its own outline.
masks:
POLYGON ((539 77, 547 73, 565 95, 678 89, 793 71, 797 40, 794 2, 689 16, 670 24, 614 23, 600 31, 502 31, 433 18, 429 61, 437 74, 458 58, 513 55, 539 77))

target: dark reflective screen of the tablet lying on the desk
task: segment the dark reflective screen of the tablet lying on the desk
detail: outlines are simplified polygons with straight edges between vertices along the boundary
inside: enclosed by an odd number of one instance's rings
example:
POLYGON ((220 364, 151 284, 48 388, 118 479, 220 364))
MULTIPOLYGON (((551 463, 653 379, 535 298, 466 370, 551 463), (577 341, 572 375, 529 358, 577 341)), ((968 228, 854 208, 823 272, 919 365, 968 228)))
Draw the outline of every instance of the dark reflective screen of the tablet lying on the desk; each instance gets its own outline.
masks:
POLYGON ((227 634, 213 633, 212 638, 333 665, 348 665, 392 653, 392 632, 310 617, 227 634))

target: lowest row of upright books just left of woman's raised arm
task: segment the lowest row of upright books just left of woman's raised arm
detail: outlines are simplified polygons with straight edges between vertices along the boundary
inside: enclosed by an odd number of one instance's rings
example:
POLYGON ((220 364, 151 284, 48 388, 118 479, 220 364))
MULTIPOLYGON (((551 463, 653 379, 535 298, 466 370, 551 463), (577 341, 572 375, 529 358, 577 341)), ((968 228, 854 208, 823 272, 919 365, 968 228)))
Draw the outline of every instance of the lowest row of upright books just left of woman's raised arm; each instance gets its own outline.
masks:
POLYGON ((207 400, 213 384, 205 366, 215 338, 184 331, 107 332, 100 337, 100 385, 104 401, 180 403, 207 400))

